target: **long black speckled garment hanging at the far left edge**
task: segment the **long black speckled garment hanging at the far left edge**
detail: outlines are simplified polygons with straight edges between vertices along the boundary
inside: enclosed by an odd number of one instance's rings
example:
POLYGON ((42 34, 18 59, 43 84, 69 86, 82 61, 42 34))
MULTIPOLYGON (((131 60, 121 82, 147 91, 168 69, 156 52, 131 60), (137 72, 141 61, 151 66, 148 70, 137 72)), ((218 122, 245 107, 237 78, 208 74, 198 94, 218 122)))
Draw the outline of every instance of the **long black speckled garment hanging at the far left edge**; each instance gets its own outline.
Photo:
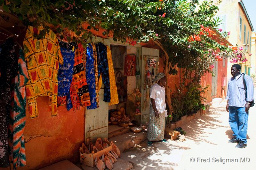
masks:
POLYGON ((9 166, 8 132, 11 101, 11 80, 18 70, 17 55, 12 39, 0 45, 0 167, 9 166))

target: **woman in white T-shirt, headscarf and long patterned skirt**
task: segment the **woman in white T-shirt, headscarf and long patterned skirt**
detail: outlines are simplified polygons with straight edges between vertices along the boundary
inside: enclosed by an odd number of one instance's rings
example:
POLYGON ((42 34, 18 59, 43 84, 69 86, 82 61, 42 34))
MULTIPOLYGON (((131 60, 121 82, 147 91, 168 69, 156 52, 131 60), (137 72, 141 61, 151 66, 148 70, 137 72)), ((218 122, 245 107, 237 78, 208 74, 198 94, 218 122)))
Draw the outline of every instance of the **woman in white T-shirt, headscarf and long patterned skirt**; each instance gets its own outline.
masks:
POLYGON ((153 82, 157 82, 150 88, 150 115, 148 123, 148 145, 152 146, 152 141, 164 141, 164 120, 165 120, 165 90, 166 77, 164 73, 156 74, 153 82))

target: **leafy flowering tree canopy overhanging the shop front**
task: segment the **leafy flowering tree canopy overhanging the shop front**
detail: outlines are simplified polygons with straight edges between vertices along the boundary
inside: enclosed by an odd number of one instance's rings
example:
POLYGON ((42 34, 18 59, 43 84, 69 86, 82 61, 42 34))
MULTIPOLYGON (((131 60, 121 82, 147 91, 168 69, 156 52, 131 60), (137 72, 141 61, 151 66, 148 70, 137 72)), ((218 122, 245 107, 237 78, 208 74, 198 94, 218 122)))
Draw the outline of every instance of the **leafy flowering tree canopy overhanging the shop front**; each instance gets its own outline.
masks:
MULTIPOLYGON (((186 88, 189 91, 192 86, 198 87, 201 76, 211 71, 210 66, 221 56, 233 54, 231 48, 213 38, 225 37, 227 33, 212 31, 220 21, 214 18, 218 6, 212 1, 199 4, 198 0, 0 0, 1 5, 25 26, 44 26, 37 38, 53 27, 60 38, 83 43, 92 39, 92 29, 101 28, 103 35, 113 37, 114 41, 134 45, 153 40, 163 50, 166 76, 177 74, 177 67, 184 70, 183 81, 177 86, 178 95, 186 88), (215 54, 217 49, 221 56, 215 54), (186 78, 190 85, 185 83, 186 78)), ((168 87, 166 91, 170 93, 168 87)), ((167 95, 167 105, 172 108, 171 95, 167 95)))

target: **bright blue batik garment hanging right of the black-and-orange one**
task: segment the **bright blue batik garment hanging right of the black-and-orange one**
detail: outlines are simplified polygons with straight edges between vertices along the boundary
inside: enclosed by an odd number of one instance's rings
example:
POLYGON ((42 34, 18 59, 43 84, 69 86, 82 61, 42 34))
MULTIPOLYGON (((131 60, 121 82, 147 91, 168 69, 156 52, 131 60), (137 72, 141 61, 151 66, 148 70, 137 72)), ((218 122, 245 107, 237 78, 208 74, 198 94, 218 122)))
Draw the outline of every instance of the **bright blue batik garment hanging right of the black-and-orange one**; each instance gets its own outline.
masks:
POLYGON ((95 88, 95 71, 94 71, 94 57, 92 45, 89 44, 86 48, 86 80, 90 94, 91 106, 87 106, 87 109, 97 108, 96 101, 96 88, 95 88))

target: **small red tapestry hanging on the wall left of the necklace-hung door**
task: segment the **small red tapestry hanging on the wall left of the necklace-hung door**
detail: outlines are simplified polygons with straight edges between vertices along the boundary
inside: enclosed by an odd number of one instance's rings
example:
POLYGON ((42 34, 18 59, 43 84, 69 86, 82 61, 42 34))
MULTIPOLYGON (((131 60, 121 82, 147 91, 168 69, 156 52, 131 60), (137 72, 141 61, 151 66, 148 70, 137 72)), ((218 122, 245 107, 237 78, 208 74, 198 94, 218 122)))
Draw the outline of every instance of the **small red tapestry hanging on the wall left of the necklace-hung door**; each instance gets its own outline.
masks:
POLYGON ((125 55, 124 76, 134 76, 136 72, 136 55, 125 55))

